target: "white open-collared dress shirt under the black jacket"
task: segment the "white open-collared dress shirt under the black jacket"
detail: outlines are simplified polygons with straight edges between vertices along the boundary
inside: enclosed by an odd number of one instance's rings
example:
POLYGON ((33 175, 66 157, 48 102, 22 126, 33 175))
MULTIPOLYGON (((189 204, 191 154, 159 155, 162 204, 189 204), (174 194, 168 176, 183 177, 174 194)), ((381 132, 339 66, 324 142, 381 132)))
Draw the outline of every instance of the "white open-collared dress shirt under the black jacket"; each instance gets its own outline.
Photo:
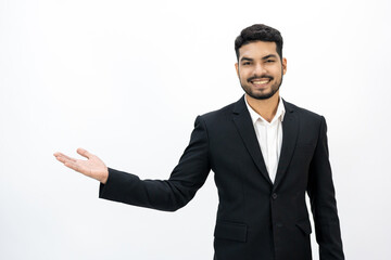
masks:
POLYGON ((251 108, 247 101, 247 96, 244 100, 250 112, 267 172, 274 183, 282 145, 282 120, 286 113, 282 99, 281 96, 279 98, 276 115, 270 122, 251 108))

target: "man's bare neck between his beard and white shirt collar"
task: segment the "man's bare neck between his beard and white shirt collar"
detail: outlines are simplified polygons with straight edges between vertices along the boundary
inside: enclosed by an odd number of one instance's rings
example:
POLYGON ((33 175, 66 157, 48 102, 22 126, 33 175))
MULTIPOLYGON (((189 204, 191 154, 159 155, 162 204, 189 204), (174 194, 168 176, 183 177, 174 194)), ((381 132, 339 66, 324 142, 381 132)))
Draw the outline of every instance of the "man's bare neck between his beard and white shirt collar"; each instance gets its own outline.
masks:
POLYGON ((244 96, 251 106, 257 114, 260 114, 265 120, 270 122, 277 113, 279 102, 279 91, 277 91, 272 98, 267 100, 256 100, 245 94, 244 96))

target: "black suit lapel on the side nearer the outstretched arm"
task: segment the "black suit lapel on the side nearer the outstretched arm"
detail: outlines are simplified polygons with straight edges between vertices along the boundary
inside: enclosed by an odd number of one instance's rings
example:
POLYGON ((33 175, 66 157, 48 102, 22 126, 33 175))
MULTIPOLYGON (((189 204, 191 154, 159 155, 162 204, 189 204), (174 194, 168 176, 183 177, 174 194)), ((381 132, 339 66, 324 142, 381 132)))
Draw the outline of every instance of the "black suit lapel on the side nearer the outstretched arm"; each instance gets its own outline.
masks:
POLYGON ((264 178, 270 183, 270 185, 273 185, 265 166, 258 141, 256 139, 250 113, 245 107, 244 95, 236 103, 234 108, 234 122, 256 167, 262 172, 264 178))

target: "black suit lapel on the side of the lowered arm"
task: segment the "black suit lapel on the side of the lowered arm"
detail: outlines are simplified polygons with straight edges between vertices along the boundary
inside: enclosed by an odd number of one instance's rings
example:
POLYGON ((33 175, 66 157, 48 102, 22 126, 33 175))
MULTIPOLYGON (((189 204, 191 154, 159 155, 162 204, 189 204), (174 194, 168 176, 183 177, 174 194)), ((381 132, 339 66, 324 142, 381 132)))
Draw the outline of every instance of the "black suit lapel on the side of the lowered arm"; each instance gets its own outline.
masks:
POLYGON ((294 107, 283 101, 286 108, 286 115, 282 121, 282 146, 278 161, 276 180, 274 183, 274 190, 283 179, 287 172, 288 166, 292 159, 294 147, 299 135, 299 118, 298 113, 294 113, 294 107))

